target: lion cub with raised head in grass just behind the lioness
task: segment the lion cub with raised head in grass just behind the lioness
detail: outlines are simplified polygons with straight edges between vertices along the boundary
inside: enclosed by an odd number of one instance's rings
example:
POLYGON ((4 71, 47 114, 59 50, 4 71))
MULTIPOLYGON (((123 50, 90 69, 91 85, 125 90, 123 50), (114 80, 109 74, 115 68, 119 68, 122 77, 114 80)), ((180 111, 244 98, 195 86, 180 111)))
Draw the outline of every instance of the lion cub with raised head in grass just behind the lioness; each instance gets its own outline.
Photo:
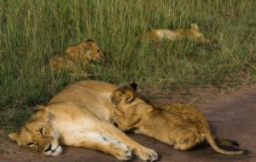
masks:
POLYGON ((53 71, 67 70, 69 72, 83 73, 79 69, 79 64, 87 66, 90 60, 99 61, 103 59, 103 54, 96 42, 87 40, 78 45, 67 47, 61 54, 55 54, 49 60, 50 69, 53 71))

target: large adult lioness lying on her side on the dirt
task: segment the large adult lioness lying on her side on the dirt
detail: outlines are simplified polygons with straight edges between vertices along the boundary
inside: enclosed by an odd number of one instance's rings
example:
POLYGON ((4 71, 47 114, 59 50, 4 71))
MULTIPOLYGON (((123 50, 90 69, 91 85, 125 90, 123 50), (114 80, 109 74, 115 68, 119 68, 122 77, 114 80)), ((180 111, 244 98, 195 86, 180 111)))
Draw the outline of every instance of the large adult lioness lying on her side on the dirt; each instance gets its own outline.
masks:
POLYGON ((21 147, 46 155, 61 154, 61 145, 91 148, 118 159, 132 154, 154 161, 158 154, 113 126, 105 100, 118 87, 101 81, 80 81, 66 87, 9 138, 21 147))

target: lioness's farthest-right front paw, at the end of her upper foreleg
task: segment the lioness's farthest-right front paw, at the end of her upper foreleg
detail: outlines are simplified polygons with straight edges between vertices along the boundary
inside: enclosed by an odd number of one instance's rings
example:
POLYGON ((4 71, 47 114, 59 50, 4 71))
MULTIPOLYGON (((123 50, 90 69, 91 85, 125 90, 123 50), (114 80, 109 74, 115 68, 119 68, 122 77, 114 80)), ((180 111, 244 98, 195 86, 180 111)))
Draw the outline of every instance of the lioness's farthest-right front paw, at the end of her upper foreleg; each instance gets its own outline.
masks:
POLYGON ((155 161, 158 159, 158 154, 153 149, 143 148, 138 150, 136 153, 138 158, 145 161, 155 161))

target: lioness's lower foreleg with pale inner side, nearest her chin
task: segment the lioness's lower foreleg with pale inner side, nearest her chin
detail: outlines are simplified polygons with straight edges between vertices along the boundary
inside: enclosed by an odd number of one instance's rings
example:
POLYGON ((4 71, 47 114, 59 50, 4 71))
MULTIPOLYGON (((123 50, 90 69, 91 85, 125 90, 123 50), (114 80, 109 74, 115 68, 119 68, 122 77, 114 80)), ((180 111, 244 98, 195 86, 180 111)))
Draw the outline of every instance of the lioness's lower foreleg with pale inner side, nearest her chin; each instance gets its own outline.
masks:
POLYGON ((82 141, 76 144, 76 146, 112 154, 120 160, 129 160, 132 157, 131 148, 125 145, 125 143, 97 132, 86 133, 82 141))

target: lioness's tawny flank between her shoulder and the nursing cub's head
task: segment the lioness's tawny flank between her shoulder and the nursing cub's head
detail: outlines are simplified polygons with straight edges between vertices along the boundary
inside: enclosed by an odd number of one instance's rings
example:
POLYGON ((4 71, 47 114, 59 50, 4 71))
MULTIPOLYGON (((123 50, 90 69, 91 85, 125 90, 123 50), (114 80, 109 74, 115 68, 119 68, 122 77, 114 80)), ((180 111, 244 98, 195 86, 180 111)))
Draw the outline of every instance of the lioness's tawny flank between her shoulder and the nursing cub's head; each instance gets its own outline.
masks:
POLYGON ((110 121, 108 110, 104 109, 104 99, 109 98, 117 87, 102 81, 79 81, 59 92, 51 103, 73 103, 90 109, 99 119, 110 121))

